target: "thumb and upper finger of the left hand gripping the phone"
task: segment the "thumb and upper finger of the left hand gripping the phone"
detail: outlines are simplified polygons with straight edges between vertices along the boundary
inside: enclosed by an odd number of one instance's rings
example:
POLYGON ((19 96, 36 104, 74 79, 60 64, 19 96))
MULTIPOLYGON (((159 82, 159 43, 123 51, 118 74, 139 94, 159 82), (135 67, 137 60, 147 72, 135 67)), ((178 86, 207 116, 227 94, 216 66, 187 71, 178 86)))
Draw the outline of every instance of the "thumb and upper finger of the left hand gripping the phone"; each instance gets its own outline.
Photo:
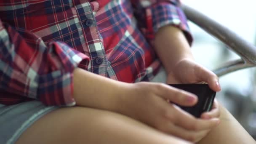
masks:
MULTIPOLYGON (((186 91, 182 91, 173 87, 170 87, 165 84, 156 85, 158 93, 160 96, 163 96, 165 99, 169 99, 177 104, 189 105, 191 102, 190 97, 194 97, 193 94, 190 94, 186 91), (189 97, 190 96, 190 97, 189 97), (190 101, 190 102, 189 102, 190 101)), ((195 100, 192 100, 195 101, 195 100)), ((219 124, 218 118, 211 118, 209 120, 198 119, 184 110, 180 109, 174 104, 163 103, 161 104, 165 109, 163 114, 168 117, 174 124, 181 126, 187 130, 191 131, 202 131, 206 129, 211 129, 214 126, 219 124)), ((217 107, 214 104, 214 107, 217 107)), ((213 112, 213 115, 216 115, 213 112)))

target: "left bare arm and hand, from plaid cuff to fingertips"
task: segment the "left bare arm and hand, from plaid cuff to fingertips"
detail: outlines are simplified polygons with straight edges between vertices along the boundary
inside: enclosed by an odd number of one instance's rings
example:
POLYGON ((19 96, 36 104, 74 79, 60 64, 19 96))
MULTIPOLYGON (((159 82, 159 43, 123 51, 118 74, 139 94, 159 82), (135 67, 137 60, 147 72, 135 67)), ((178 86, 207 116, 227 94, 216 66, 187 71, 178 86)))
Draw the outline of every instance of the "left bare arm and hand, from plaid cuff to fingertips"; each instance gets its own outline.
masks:
POLYGON ((161 83, 123 83, 79 68, 74 71, 74 98, 79 106, 118 112, 190 141, 219 123, 218 118, 197 119, 166 101, 192 106, 197 99, 191 93, 161 83))

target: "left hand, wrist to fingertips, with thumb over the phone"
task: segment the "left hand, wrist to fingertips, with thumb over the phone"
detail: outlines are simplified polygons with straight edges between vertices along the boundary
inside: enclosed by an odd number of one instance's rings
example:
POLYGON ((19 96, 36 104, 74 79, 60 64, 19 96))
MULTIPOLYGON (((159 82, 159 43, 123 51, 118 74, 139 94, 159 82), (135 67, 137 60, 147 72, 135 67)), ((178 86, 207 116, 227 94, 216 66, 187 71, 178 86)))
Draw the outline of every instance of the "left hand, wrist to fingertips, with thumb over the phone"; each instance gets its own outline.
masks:
POLYGON ((167 102, 168 99, 183 106, 197 102, 194 94, 169 85, 141 82, 127 84, 121 91, 117 112, 182 139, 197 142, 219 124, 219 118, 196 118, 167 102))

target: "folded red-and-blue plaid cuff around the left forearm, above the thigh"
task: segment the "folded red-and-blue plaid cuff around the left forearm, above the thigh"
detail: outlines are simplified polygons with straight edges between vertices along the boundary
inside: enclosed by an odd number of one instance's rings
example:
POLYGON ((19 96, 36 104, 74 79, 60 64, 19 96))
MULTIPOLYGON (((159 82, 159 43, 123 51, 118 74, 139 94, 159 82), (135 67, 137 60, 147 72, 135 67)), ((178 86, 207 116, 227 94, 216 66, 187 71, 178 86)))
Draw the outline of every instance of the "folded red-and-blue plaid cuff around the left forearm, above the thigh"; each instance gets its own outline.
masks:
POLYGON ((90 58, 62 42, 49 43, 48 47, 61 59, 61 64, 57 64, 61 69, 40 76, 39 99, 45 105, 74 106, 73 72, 81 61, 88 62, 90 58))

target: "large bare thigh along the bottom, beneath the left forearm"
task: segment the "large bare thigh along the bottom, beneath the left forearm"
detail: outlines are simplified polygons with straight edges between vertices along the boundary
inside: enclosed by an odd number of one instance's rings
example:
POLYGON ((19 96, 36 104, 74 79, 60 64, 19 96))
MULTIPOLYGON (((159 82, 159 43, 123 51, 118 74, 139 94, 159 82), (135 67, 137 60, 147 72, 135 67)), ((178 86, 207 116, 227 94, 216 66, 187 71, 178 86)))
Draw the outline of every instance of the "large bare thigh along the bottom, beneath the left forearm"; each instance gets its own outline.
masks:
POLYGON ((17 144, 187 144, 139 121, 84 107, 57 109, 29 127, 17 144))

